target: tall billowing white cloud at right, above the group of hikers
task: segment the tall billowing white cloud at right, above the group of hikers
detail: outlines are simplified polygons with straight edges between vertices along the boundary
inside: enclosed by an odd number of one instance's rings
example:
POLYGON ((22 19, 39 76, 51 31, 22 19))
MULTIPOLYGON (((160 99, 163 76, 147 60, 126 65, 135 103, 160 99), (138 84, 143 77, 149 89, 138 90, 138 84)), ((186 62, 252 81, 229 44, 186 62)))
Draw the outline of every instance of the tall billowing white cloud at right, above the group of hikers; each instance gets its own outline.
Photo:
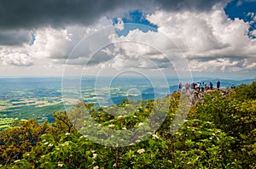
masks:
POLYGON ((245 63, 244 68, 255 62, 256 41, 247 36, 250 25, 243 20, 230 20, 221 8, 203 13, 157 11, 148 15, 148 20, 177 43, 192 70, 207 70, 207 66, 215 65, 218 70, 231 71, 237 57, 245 63), (218 60, 221 58, 225 61, 218 60), (220 65, 223 67, 219 69, 220 65))

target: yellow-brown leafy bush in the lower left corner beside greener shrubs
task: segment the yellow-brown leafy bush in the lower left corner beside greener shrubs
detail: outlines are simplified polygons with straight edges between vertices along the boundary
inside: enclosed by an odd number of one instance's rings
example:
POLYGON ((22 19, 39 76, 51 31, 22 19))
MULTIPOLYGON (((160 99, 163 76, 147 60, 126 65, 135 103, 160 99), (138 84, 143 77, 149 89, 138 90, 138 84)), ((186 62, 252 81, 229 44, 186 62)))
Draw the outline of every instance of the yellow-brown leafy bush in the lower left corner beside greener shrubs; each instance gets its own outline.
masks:
POLYGON ((40 141, 41 136, 49 133, 59 138, 62 132, 73 132, 75 129, 67 118, 66 112, 54 112, 55 123, 42 125, 36 120, 15 121, 11 127, 0 132, 0 165, 7 165, 19 160, 26 152, 31 151, 40 141))

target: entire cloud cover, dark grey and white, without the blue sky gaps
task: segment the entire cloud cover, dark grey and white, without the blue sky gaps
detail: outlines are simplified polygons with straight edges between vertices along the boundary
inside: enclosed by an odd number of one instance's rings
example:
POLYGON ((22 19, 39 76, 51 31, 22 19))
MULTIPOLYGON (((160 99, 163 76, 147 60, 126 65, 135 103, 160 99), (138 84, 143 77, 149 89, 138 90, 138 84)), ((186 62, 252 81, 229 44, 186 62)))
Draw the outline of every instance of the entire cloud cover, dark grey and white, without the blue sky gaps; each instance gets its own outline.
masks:
POLYGON ((255 30, 249 32, 256 16, 253 12, 247 14, 251 22, 230 20, 223 9, 226 3, 225 0, 1 1, 1 65, 33 65, 33 59, 47 58, 54 64, 87 63, 116 69, 165 69, 175 62, 178 70, 185 70, 182 58, 185 55, 193 71, 255 70, 256 39, 248 34, 256 37, 255 30), (118 18, 115 29, 124 30, 121 18, 127 11, 138 8, 148 14, 146 19, 157 25, 157 31, 142 31, 147 25, 137 25, 139 29, 125 36, 116 31, 101 31, 113 25, 111 18, 118 18), (83 39, 84 43, 80 42, 83 39), (80 48, 75 48, 78 45, 80 48), (90 58, 92 51, 96 54, 90 58))

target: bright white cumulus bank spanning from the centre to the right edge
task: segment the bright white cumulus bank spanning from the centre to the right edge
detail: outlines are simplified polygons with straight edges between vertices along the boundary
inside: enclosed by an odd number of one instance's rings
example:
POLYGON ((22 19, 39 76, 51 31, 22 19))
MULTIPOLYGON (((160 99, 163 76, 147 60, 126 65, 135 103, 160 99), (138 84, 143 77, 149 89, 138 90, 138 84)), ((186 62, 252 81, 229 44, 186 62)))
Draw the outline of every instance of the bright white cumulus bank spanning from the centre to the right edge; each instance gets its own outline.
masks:
MULTIPOLYGON (((207 12, 158 10, 148 14, 147 19, 158 25, 157 32, 137 29, 126 36, 119 37, 114 32, 109 36, 113 47, 102 49, 112 56, 108 64, 118 69, 161 69, 174 63, 177 70, 185 70, 184 54, 193 71, 253 70, 256 41, 247 36, 249 24, 230 20, 218 6, 207 12)), ((102 57, 102 63, 105 61, 102 57)))

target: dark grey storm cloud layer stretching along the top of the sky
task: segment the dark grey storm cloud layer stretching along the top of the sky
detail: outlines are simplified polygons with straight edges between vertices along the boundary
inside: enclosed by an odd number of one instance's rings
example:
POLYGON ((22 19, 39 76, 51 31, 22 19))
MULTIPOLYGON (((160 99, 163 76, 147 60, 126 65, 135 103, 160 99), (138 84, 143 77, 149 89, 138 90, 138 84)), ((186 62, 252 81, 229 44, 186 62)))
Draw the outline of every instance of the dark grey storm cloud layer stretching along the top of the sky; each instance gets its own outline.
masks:
MULTIPOLYGON (((208 10, 218 0, 0 0, 0 29, 90 25, 116 10, 208 10)), ((224 3, 226 1, 223 1, 224 3)))

